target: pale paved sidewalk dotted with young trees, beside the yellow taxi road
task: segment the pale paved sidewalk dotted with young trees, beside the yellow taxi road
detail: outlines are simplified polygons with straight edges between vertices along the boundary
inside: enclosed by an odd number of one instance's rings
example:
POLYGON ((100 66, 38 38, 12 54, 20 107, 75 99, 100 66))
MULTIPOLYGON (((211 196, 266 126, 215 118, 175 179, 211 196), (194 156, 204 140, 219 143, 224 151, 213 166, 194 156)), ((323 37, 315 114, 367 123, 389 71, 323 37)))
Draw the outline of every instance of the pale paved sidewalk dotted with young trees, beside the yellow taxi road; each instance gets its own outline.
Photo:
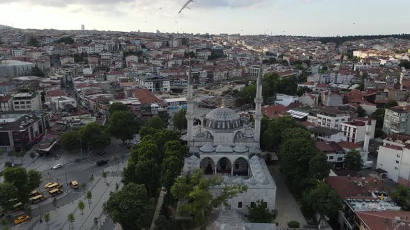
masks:
MULTIPOLYGON (((67 216, 69 213, 74 213, 75 221, 74 227, 72 229, 81 230, 81 229, 101 229, 104 226, 104 223, 107 220, 107 216, 103 212, 103 204, 108 200, 111 191, 115 191, 115 184, 118 184, 120 188, 122 187, 120 177, 107 177, 107 182, 110 184, 107 186, 105 179, 97 177, 95 183, 92 187, 92 201, 90 206, 88 200, 85 199, 85 195, 79 197, 79 199, 61 206, 55 211, 50 211, 50 229, 61 228, 63 230, 68 230, 69 223, 67 216), (79 200, 83 200, 85 203, 85 209, 83 214, 78 208, 79 200), (98 224, 95 224, 94 218, 99 218, 98 224), (100 227, 101 226, 101 227, 100 227)), ((34 230, 43 230, 47 227, 47 224, 44 222, 38 222, 33 227, 34 230)))

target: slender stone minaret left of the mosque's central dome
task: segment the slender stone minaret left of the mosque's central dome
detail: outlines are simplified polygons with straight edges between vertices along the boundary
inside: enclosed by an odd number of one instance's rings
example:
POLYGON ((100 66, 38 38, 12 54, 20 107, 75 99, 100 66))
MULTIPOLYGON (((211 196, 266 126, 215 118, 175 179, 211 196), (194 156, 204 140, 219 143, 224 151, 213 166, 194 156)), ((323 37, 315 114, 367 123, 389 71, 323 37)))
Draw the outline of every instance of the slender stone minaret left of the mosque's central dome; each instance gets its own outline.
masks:
POLYGON ((186 98, 187 112, 186 121, 188 121, 188 145, 193 143, 194 135, 194 97, 193 97, 193 80, 191 74, 191 60, 189 59, 189 71, 188 71, 188 96, 186 98))

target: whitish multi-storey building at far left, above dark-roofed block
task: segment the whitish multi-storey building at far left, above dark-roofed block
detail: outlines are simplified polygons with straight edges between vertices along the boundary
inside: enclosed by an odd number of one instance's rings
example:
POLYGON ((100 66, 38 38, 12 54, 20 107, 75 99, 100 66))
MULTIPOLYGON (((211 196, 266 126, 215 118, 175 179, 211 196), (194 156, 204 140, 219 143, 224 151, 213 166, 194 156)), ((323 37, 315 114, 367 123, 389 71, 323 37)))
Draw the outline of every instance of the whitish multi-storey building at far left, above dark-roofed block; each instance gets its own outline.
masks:
POLYGON ((33 93, 19 93, 13 95, 13 110, 14 111, 24 111, 24 110, 33 110, 41 111, 41 94, 40 91, 33 93))

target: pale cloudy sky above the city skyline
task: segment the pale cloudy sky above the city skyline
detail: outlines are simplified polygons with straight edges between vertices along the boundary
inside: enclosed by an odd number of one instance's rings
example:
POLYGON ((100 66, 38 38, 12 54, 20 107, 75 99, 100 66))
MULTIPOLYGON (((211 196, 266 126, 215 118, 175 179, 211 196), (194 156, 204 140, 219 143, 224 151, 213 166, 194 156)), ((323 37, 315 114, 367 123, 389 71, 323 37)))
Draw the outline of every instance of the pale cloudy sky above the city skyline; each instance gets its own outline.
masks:
POLYGON ((410 0, 0 0, 0 24, 242 35, 410 33, 410 0))

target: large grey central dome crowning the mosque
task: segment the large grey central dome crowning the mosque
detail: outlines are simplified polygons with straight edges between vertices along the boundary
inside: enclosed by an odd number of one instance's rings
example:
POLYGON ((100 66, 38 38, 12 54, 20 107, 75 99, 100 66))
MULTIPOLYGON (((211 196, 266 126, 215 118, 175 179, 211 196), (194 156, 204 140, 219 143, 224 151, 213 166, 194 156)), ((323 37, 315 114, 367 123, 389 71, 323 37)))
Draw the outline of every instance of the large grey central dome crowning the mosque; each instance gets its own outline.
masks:
POLYGON ((227 130, 242 127, 243 123, 240 121, 239 114, 232 109, 222 107, 206 114, 204 125, 215 130, 227 130))

